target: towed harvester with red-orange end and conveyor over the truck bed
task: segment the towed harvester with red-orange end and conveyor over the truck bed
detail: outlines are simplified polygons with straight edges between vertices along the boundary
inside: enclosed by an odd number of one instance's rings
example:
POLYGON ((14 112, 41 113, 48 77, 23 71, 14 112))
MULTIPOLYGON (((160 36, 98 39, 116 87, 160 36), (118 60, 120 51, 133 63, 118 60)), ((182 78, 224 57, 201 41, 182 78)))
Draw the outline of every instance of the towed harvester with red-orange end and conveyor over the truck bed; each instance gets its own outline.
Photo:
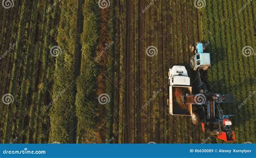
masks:
POLYGON ((221 109, 221 103, 233 103, 233 95, 220 95, 211 93, 207 86, 199 83, 199 93, 196 95, 187 94, 183 96, 184 104, 194 105, 191 116, 192 123, 198 125, 201 123, 204 132, 210 133, 218 139, 233 142, 235 133, 232 130, 230 117, 233 115, 224 115, 221 109))

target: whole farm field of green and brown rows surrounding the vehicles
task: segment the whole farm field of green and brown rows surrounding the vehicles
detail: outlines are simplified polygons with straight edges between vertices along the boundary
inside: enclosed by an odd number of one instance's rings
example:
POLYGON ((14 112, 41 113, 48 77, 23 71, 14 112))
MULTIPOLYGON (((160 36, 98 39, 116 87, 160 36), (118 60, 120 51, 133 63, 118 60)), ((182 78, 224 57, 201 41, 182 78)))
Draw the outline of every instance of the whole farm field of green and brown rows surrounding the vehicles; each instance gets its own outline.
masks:
POLYGON ((207 85, 255 138, 255 1, 14 1, 0 6, 0 143, 224 143, 172 116, 167 72, 207 43, 207 85))

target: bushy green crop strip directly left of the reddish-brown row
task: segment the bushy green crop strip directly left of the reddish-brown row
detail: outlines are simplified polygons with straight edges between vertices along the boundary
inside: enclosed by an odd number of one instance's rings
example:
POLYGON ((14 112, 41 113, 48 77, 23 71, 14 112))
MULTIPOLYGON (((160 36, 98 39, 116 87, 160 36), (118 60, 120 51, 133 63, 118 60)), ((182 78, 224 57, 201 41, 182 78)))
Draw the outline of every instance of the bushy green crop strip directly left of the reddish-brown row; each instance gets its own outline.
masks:
POLYGON ((97 76, 99 70, 94 58, 99 32, 99 9, 92 1, 86 1, 84 15, 84 29, 81 35, 82 64, 80 75, 77 78, 76 114, 78 118, 77 142, 96 142, 96 115, 97 111, 97 76), (90 84, 88 84, 90 83, 90 84))

